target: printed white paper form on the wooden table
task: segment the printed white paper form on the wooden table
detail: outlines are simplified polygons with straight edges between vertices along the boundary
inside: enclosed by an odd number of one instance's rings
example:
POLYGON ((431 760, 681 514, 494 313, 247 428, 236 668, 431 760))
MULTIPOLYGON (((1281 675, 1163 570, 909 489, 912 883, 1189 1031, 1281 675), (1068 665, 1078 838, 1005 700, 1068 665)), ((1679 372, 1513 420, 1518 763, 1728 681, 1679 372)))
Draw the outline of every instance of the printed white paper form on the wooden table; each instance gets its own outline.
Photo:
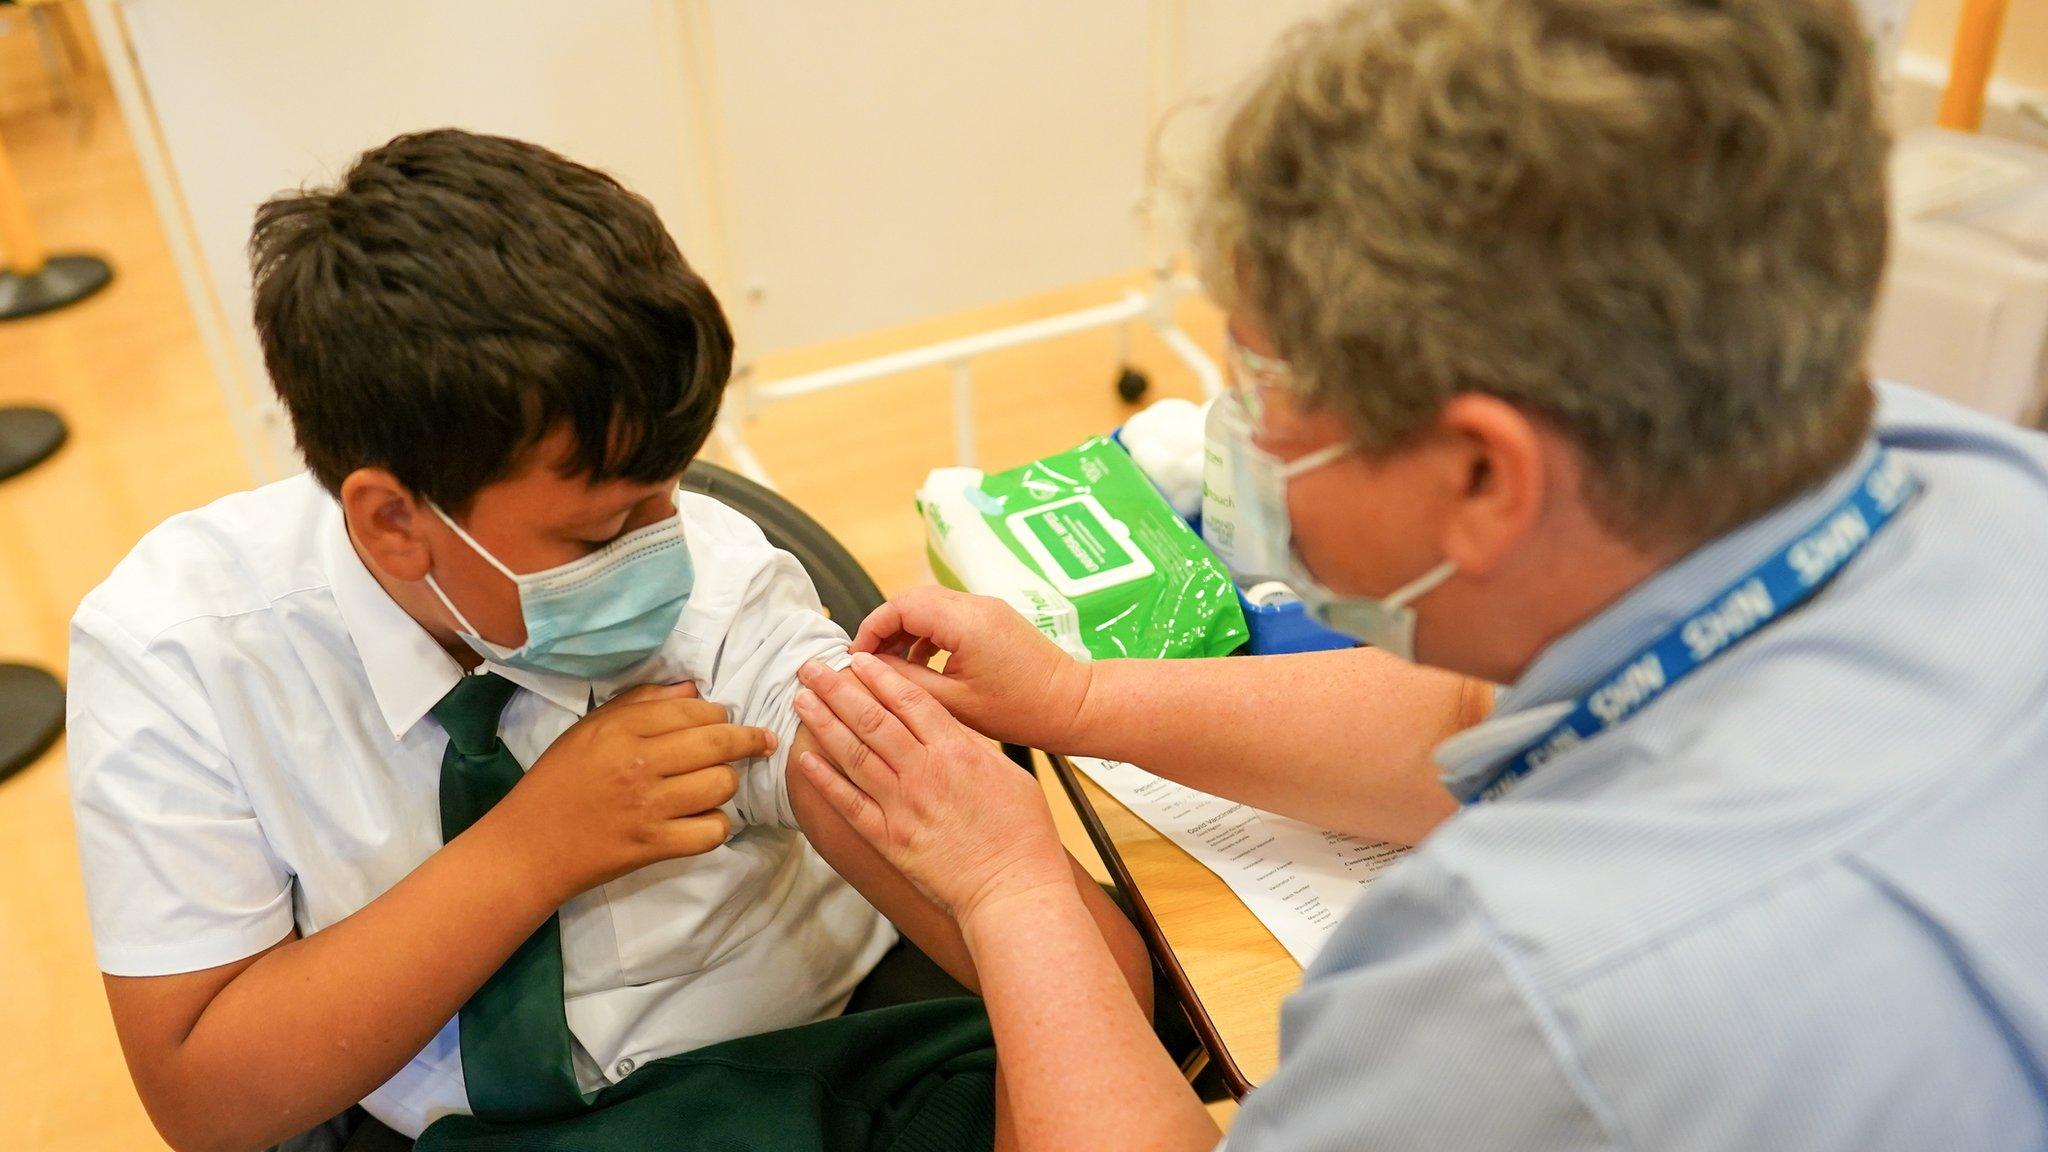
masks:
POLYGON ((1407 851, 1208 795, 1122 760, 1075 756, 1073 767, 1223 877, 1303 968, 1366 883, 1407 851))

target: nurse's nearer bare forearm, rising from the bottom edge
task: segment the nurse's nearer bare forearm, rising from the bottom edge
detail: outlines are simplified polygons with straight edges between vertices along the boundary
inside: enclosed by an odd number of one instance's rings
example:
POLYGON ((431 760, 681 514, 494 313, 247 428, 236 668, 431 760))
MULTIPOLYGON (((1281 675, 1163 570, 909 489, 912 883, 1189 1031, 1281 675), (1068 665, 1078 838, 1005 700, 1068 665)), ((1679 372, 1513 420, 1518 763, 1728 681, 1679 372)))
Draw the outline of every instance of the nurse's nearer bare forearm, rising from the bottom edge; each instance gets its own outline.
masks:
POLYGON ((1214 1148, 1217 1123, 1159 1047, 1073 888, 997 898, 963 933, 1020 1150, 1214 1148))

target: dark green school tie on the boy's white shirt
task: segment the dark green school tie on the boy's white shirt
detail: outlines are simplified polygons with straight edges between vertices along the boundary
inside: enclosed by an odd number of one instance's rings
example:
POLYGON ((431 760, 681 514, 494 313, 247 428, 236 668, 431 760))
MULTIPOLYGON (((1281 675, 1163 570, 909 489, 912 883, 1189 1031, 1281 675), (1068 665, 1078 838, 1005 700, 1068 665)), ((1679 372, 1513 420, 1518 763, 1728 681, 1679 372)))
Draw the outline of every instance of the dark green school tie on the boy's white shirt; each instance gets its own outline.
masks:
MULTIPOLYGON (((463 676, 434 705, 449 732, 440 754, 440 838, 453 840, 504 799, 520 765, 498 738, 498 715, 518 687, 483 672, 463 676)), ((549 916, 477 988, 461 1013, 463 1082, 483 1119, 537 1119, 584 1107, 561 1006, 561 922, 549 916)))

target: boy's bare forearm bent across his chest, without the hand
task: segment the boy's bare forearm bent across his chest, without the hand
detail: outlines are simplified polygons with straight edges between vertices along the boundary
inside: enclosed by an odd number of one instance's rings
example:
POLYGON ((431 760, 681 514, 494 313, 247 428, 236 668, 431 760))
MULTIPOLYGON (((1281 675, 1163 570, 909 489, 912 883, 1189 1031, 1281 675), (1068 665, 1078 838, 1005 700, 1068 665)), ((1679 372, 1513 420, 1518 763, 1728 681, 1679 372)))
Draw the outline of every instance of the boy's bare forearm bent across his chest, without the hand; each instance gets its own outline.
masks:
POLYGON ((178 1148, 305 1132, 403 1068, 565 896, 485 818, 346 920, 258 957, 168 1052, 131 1050, 143 1103, 178 1148))

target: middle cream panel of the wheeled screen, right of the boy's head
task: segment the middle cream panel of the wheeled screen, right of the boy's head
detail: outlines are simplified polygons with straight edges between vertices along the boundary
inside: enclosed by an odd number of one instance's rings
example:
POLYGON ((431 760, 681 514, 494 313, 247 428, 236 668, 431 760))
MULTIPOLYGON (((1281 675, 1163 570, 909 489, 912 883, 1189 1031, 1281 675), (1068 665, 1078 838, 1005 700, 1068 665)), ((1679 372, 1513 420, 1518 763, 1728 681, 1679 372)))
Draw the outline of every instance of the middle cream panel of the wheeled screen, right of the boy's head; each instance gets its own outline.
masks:
POLYGON ((756 348, 1139 264, 1143 4, 711 10, 756 348))

